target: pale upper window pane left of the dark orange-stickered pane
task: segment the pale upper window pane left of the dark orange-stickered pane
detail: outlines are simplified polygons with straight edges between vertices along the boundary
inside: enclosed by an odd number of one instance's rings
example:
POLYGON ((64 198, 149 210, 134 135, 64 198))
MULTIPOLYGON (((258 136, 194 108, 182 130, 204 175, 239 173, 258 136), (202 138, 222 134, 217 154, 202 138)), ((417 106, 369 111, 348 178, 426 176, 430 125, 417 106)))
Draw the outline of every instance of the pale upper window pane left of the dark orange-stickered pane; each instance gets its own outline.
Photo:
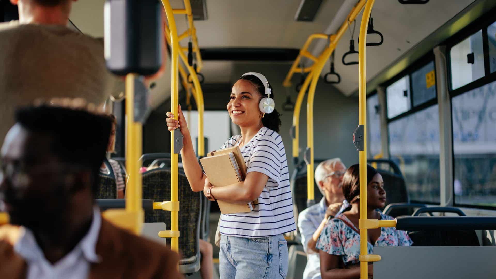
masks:
POLYGON ((387 117, 389 119, 410 110, 410 81, 408 75, 387 86, 387 117))

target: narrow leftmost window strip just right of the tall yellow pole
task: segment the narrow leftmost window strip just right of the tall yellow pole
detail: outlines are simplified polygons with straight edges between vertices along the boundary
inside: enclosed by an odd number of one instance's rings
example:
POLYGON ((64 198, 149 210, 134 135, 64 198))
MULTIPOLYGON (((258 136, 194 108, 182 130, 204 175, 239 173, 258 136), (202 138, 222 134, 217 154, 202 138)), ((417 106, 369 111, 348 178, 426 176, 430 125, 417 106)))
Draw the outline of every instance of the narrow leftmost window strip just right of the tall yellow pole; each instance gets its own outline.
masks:
POLYGON ((371 157, 381 153, 380 146, 380 108, 379 108, 379 97, 374 94, 367 98, 367 114, 369 120, 369 127, 367 131, 369 132, 369 154, 371 157))

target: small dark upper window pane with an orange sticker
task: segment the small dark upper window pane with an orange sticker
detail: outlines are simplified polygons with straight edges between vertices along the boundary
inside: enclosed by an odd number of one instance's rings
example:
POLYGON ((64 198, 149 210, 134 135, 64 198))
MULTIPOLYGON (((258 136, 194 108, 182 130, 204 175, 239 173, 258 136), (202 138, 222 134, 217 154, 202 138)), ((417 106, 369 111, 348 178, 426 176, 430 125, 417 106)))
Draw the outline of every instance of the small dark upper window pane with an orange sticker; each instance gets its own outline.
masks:
POLYGON ((414 107, 435 98, 434 61, 414 71, 411 76, 414 107))

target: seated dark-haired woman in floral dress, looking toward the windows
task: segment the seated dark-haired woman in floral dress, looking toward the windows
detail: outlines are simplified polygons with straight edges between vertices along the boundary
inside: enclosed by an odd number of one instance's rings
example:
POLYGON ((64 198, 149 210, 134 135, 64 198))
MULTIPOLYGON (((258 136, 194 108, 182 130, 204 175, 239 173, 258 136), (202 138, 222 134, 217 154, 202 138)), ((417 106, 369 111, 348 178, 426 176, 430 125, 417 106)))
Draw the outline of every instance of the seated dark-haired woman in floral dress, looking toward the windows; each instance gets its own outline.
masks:
MULTIPOLYGON (((320 254, 320 273, 327 278, 360 278, 360 170, 359 165, 351 166, 343 176, 343 194, 351 204, 351 209, 337 214, 329 220, 320 234, 316 248, 320 254)), ((386 191, 381 175, 367 165, 367 216, 369 219, 394 220, 378 209, 386 202, 386 191)), ((410 246, 412 240, 406 231, 395 228, 368 230, 368 253, 373 246, 410 246)), ((373 276, 372 263, 369 264, 369 278, 373 276)))

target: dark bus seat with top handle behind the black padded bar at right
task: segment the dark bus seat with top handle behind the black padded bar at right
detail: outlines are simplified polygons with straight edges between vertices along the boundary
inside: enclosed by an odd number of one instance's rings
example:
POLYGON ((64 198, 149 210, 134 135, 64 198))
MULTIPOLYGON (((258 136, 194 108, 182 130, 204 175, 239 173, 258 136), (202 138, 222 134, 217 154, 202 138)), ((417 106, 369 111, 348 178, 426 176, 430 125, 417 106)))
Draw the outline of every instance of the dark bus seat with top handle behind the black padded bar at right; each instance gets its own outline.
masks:
MULTIPOLYGON (((432 212, 451 212, 459 216, 466 216, 461 209, 451 207, 432 207, 417 209, 412 216, 419 216, 432 212)), ((429 230, 409 231, 408 235, 413 241, 412 246, 480 246, 479 238, 475 230, 429 230)))

